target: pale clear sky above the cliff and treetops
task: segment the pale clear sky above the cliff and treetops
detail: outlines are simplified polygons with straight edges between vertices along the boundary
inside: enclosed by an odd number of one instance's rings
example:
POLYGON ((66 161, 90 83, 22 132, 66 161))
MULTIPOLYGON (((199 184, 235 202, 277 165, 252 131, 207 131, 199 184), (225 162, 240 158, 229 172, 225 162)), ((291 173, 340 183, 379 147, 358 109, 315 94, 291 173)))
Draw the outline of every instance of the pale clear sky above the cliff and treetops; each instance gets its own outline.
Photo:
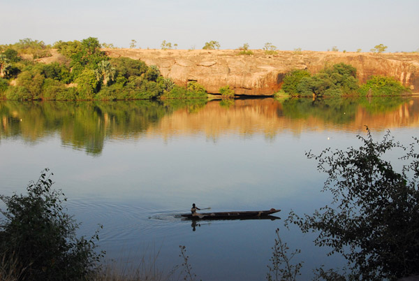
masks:
POLYGON ((419 0, 0 0, 0 10, 0 45, 96 37, 119 48, 419 49, 419 0))

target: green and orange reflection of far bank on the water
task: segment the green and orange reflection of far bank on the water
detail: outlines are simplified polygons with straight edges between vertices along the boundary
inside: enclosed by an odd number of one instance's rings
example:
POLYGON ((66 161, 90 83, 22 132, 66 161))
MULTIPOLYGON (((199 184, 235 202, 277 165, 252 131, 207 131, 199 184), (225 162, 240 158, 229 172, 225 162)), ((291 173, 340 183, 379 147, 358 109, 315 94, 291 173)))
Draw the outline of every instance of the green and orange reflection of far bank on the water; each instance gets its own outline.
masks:
POLYGON ((59 134, 61 143, 101 154, 106 139, 204 134, 274 138, 281 131, 330 127, 359 131, 419 127, 419 98, 241 99, 235 101, 0 101, 0 140, 36 143, 59 134))

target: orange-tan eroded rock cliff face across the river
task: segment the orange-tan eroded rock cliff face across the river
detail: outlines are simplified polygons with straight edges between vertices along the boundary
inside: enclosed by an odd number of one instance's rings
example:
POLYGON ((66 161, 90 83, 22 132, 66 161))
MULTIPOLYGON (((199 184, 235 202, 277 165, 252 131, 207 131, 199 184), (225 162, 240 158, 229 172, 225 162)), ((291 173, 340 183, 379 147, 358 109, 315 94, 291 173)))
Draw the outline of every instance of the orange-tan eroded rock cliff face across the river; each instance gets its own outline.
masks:
POLYGON ((236 94, 272 95, 281 88, 284 75, 293 69, 308 69, 316 73, 327 65, 340 62, 358 69, 358 79, 365 82, 370 75, 391 76, 419 90, 419 54, 278 51, 265 55, 237 55, 237 50, 142 50, 105 49, 110 57, 141 59, 147 65, 159 66, 161 74, 177 85, 186 86, 195 80, 209 93, 230 85, 236 94))

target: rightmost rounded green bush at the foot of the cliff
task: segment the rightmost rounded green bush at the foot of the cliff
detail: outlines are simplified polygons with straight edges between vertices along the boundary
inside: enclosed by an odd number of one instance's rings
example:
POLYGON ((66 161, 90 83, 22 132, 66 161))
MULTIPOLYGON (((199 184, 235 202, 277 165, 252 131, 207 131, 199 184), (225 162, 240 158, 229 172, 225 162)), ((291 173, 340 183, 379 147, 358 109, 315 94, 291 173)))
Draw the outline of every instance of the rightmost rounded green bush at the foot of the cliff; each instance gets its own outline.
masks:
POLYGON ((395 78, 385 76, 372 76, 360 87, 360 94, 364 96, 397 96, 410 92, 395 78))

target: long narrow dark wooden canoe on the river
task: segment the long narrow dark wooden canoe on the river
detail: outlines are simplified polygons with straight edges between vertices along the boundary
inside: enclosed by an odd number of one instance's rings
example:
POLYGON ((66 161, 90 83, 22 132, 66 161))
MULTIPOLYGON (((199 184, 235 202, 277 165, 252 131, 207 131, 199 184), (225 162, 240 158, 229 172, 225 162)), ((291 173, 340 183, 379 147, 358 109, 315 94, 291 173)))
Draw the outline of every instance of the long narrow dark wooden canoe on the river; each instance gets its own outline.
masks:
MULTIPOLYGON (((232 211, 232 212, 203 212, 192 214, 183 214, 182 217, 187 219, 258 219, 272 218, 272 214, 279 212, 277 209, 260 210, 260 211, 232 211)), ((277 218, 277 217, 274 217, 277 218)))

